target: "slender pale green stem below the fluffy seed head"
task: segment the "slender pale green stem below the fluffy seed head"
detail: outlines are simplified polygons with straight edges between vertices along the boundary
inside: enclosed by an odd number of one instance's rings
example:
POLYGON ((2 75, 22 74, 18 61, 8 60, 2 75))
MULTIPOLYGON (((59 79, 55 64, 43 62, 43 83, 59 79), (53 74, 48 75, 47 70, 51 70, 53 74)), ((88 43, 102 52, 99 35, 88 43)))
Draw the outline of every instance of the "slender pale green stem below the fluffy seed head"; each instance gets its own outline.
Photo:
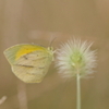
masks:
POLYGON ((76 75, 76 109, 81 109, 81 77, 76 75))

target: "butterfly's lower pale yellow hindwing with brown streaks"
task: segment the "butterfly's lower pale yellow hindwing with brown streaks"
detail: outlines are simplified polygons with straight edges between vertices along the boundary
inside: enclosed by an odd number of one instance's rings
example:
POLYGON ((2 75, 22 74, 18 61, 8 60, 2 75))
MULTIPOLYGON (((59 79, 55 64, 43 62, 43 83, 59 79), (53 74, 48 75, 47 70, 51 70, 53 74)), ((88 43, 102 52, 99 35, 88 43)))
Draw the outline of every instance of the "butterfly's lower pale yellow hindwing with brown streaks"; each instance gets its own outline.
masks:
POLYGON ((25 53, 19 59, 16 56, 13 57, 8 53, 9 62, 11 60, 12 71, 19 78, 26 83, 41 82, 52 61, 52 55, 47 49, 45 50, 40 47, 38 47, 38 50, 25 53))

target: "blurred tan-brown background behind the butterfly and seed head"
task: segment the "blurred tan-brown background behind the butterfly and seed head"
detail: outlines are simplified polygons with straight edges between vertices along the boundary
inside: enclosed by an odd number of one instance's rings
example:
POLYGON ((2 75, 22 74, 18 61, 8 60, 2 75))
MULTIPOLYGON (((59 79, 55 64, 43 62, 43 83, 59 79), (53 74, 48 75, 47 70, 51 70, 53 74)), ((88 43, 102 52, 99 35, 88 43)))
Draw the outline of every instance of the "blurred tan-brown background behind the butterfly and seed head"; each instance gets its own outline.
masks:
POLYGON ((55 49, 71 37, 94 41, 98 65, 82 80, 82 109, 109 109, 108 0, 0 0, 0 109, 76 109, 75 78, 60 77, 55 63, 41 83, 25 84, 3 56, 10 46, 47 47, 53 37, 55 49))

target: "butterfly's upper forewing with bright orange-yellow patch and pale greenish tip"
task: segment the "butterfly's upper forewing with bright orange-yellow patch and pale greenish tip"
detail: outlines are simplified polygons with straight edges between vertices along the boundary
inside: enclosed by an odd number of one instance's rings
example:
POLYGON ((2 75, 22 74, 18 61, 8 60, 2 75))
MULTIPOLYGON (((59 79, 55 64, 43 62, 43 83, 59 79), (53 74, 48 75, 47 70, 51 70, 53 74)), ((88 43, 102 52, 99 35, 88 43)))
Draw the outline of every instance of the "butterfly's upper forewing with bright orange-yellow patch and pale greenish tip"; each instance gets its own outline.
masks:
POLYGON ((36 50, 46 51, 46 48, 44 48, 41 46, 37 46, 37 45, 27 45, 27 44, 15 45, 13 47, 8 48, 4 51, 4 56, 8 59, 9 63, 13 64, 22 56, 25 56, 25 55, 31 53, 36 50))

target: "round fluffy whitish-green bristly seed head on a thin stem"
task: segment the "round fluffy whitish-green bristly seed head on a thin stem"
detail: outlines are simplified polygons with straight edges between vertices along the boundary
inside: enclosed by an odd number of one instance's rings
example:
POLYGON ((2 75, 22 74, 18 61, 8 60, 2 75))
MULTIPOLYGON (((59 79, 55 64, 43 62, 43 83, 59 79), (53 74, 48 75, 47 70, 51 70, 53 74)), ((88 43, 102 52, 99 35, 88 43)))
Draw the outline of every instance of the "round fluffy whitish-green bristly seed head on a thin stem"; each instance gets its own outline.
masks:
POLYGON ((81 76, 93 73, 96 66, 96 51, 90 50, 92 43, 71 39, 62 44, 57 51, 56 63, 59 73, 64 77, 72 77, 80 73, 81 76))

